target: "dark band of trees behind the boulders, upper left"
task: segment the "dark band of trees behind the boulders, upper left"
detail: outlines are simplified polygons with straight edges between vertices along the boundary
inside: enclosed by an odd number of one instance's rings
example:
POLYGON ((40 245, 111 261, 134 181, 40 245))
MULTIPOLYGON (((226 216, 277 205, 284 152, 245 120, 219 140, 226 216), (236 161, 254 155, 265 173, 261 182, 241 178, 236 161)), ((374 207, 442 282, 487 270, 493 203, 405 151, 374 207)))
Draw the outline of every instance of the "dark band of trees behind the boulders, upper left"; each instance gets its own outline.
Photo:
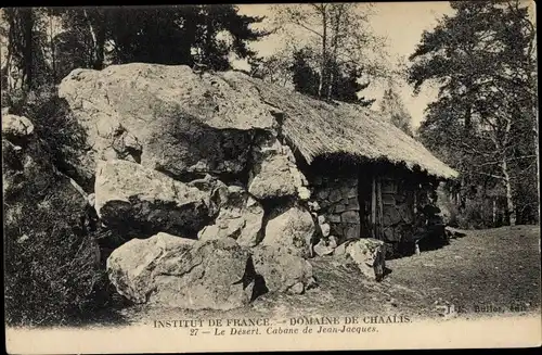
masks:
POLYGON ((262 17, 237 11, 231 4, 5 9, 2 89, 29 91, 57 84, 74 68, 101 69, 109 63, 230 69, 231 53, 254 56, 246 42, 268 35, 250 29, 262 17))

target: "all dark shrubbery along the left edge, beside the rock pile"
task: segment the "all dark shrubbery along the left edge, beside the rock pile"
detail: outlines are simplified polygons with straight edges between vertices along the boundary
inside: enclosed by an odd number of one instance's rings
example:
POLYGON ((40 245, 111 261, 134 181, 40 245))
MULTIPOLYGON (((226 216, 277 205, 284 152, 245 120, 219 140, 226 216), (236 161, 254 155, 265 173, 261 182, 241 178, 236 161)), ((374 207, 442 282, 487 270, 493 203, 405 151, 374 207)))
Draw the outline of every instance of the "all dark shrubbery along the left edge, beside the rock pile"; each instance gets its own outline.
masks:
MULTIPOLYGON (((9 100, 11 113, 30 117, 35 138, 23 145, 23 156, 3 149, 7 322, 81 320, 111 299, 98 258, 103 231, 93 226, 92 208, 57 172, 75 177, 68 166, 79 165, 72 149, 85 141, 83 130, 54 87, 9 100)), ((91 188, 87 182, 83 188, 91 188)))

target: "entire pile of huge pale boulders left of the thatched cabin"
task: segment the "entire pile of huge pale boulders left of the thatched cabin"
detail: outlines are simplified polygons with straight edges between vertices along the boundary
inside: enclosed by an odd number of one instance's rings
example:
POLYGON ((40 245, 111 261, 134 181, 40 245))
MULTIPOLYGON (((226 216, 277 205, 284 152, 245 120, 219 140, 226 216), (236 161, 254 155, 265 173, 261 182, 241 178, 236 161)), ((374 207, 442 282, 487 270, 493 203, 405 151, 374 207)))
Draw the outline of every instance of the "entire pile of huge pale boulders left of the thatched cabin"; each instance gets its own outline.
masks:
POLYGON ((128 64, 60 85, 87 132, 74 170, 95 172, 100 220, 128 240, 109 278, 136 303, 229 309, 315 284, 311 194, 281 113, 232 75, 128 64))

